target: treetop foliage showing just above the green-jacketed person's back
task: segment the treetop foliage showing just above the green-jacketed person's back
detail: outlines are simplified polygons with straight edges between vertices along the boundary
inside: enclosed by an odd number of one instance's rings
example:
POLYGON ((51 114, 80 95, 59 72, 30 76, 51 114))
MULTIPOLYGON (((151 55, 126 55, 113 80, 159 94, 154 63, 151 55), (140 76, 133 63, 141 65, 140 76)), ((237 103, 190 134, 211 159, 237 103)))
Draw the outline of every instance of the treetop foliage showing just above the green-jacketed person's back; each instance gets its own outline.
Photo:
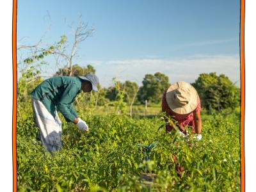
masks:
MULTIPOLYGON (((95 74, 95 68, 93 68, 92 65, 87 65, 86 67, 81 67, 78 64, 75 64, 72 66, 72 76, 84 76, 85 74, 88 74, 89 72, 92 72, 95 74)), ((60 68, 54 76, 69 76, 70 75, 70 68, 63 67, 60 68)))

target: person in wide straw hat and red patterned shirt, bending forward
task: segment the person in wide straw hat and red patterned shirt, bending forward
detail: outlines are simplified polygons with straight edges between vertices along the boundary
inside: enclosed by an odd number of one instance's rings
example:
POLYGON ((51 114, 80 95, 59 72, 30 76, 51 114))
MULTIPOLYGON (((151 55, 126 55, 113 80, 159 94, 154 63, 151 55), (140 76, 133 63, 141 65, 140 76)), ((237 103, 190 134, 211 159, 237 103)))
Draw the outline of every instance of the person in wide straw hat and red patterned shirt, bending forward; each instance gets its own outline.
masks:
MULTIPOLYGON (((162 111, 177 120, 179 131, 186 135, 185 126, 192 128, 196 133, 196 139, 201 140, 202 122, 200 115, 200 98, 193 86, 184 81, 173 83, 163 93, 162 111)), ((172 131, 173 127, 166 124, 166 132, 172 131)))

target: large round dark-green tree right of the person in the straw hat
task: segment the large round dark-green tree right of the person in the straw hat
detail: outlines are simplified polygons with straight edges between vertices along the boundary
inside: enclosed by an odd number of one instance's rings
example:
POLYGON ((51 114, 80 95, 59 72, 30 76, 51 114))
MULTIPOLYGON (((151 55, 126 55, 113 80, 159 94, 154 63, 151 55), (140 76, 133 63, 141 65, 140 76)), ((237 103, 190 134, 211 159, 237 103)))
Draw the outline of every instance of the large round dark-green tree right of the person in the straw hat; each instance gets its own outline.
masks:
POLYGON ((192 85, 207 109, 234 109, 240 104, 240 89, 223 74, 200 74, 192 85))

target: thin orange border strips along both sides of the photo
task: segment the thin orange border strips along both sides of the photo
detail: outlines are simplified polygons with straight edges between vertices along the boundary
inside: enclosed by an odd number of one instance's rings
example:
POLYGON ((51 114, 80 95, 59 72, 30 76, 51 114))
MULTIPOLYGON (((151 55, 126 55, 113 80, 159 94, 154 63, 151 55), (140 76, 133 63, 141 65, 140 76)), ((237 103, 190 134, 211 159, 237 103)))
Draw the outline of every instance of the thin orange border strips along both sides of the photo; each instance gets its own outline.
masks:
MULTIPOLYGON (((240 72, 241 72, 241 191, 245 191, 244 163, 244 104, 245 104, 245 67, 244 67, 244 14, 245 0, 240 1, 240 72)), ((12 20, 12 59, 13 59, 13 116, 12 116, 12 154, 13 154, 13 191, 17 191, 17 0, 13 0, 12 20)))

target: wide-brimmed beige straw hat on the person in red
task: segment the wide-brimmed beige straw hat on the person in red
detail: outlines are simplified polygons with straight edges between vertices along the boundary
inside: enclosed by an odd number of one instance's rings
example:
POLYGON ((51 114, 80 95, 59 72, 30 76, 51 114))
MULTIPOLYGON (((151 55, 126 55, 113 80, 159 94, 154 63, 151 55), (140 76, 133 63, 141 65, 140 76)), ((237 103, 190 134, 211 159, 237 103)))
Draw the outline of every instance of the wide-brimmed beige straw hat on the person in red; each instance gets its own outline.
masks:
POLYGON ((178 114, 188 114, 197 106, 198 94, 195 88, 186 82, 172 84, 166 91, 166 101, 170 109, 178 114))

